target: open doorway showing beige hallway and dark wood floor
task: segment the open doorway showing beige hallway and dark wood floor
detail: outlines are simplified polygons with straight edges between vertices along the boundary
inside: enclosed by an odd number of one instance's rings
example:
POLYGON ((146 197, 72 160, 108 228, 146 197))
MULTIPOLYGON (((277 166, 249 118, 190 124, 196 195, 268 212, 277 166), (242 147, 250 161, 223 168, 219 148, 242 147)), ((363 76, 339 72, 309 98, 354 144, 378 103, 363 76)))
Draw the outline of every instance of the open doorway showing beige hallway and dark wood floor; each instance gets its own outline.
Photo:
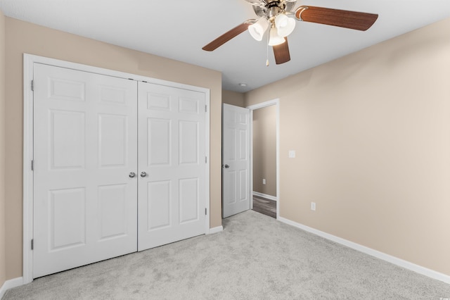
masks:
POLYGON ((278 99, 250 109, 250 208, 273 218, 279 211, 278 99))

